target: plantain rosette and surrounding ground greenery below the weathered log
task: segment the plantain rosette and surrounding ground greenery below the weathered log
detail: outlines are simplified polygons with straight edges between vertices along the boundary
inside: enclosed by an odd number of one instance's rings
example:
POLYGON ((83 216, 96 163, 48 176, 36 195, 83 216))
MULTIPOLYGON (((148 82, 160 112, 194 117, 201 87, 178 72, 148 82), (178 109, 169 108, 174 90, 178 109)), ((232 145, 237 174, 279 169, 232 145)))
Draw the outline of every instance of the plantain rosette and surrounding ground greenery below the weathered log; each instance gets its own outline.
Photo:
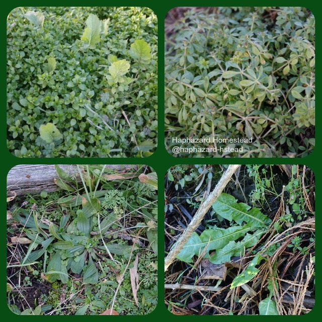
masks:
POLYGON ((155 173, 145 166, 123 172, 79 166, 70 177, 56 169, 58 191, 8 199, 10 309, 22 315, 151 312, 157 300, 155 173))

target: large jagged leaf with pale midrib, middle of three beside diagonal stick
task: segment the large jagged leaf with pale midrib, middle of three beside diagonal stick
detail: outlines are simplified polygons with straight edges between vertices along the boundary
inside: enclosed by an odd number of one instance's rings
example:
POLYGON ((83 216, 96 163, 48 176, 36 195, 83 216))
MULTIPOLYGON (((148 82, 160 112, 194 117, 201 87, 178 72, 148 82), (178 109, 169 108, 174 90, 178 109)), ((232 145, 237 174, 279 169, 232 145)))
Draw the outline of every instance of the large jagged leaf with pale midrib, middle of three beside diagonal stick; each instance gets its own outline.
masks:
POLYGON ((181 261, 190 263, 192 262, 192 257, 202 253, 205 247, 207 247, 205 257, 209 257, 209 251, 223 248, 229 241, 244 236, 245 233, 250 230, 251 227, 248 225, 234 226, 226 229, 206 229, 200 234, 200 237, 196 232, 193 232, 177 258, 181 261))

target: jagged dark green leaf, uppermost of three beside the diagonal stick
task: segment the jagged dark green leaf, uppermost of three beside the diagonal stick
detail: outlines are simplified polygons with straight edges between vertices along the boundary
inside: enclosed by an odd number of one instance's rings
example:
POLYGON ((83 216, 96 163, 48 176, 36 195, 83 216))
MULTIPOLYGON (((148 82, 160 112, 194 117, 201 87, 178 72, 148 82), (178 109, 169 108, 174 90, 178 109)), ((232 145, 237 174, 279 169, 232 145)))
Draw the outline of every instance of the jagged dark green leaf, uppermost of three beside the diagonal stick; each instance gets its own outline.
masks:
POLYGON ((266 227, 271 223, 271 219, 264 215, 260 209, 252 208, 251 206, 239 202, 226 193, 222 193, 217 201, 212 205, 212 208, 218 215, 229 220, 235 221, 239 225, 247 222, 252 227, 266 227), (250 210, 251 209, 251 210, 250 210))

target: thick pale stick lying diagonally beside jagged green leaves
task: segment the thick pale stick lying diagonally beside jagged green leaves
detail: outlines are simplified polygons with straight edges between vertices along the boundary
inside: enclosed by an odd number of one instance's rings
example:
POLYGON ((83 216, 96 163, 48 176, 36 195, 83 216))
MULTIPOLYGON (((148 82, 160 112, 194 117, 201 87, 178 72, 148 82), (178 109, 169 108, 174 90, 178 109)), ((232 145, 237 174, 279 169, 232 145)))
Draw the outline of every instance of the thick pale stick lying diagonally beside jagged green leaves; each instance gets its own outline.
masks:
POLYGON ((235 171, 240 167, 240 165, 230 165, 227 170, 224 172, 219 182, 217 183, 215 189, 211 192, 208 198, 200 205, 198 211, 193 216, 188 227, 184 230, 182 235, 179 237, 177 243, 174 245, 173 249, 169 252, 168 256, 165 259, 165 272, 168 270, 169 266, 174 262, 177 255, 181 252, 183 247, 186 245, 191 234, 197 229, 200 225, 203 217, 213 205, 213 203, 220 196, 223 189, 226 187, 227 183, 231 179, 231 176, 235 171))

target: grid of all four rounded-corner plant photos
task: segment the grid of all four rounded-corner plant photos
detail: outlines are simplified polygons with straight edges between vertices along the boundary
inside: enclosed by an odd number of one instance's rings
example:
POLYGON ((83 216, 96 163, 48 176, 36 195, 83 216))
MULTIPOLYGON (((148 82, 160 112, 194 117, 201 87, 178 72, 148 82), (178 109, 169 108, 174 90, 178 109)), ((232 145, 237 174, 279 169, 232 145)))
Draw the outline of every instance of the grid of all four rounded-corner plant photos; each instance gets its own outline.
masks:
POLYGON ((9 309, 310 312, 315 175, 289 158, 305 160, 315 145, 312 12, 175 7, 161 21, 164 53, 155 12, 8 15, 7 147, 19 160, 7 176, 9 309))

